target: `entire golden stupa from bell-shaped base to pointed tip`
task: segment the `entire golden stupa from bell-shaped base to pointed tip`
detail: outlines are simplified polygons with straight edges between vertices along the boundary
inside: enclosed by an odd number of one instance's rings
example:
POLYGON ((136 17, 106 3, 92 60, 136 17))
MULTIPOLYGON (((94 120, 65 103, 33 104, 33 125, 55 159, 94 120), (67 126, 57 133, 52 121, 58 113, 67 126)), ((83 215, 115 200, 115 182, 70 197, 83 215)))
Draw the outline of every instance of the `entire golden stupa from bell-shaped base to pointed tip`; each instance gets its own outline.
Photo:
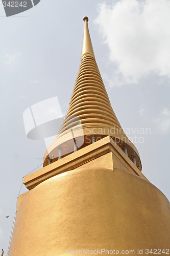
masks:
POLYGON ((112 110, 96 64, 87 17, 84 22, 68 113, 43 168, 24 177, 29 191, 19 196, 9 256, 150 249, 163 255, 170 204, 141 173, 138 151, 112 110))

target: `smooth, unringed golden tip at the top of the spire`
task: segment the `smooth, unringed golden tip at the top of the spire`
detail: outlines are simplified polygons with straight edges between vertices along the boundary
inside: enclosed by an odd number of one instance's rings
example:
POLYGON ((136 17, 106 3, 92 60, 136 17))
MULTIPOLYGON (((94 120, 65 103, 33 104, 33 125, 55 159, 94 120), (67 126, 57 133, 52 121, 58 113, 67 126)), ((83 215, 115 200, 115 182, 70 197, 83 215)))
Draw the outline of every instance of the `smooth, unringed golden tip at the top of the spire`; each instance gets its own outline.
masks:
POLYGON ((84 36, 83 36, 82 57, 86 53, 92 54, 94 56, 94 51, 93 51, 90 33, 88 29, 88 17, 85 16, 83 20, 84 20, 84 36))

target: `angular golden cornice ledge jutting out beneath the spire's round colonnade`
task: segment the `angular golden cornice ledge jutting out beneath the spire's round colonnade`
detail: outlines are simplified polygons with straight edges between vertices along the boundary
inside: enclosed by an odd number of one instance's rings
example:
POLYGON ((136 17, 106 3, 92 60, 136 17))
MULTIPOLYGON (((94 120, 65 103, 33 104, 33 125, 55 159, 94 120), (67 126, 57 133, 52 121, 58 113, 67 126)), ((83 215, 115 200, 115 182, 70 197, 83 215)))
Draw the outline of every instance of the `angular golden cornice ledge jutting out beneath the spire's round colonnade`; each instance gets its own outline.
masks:
MULTIPOLYGON (((123 154, 125 160, 128 162, 128 164, 131 165, 131 160, 117 146, 117 144, 112 140, 112 138, 110 136, 107 136, 99 141, 96 141, 93 144, 81 148, 81 150, 77 152, 71 153, 70 155, 67 155, 54 163, 51 163, 39 170, 36 170, 32 174, 25 176, 23 178, 23 184, 25 184, 26 187, 30 190, 49 178, 67 172, 69 170, 78 168, 79 166, 82 166, 83 164, 102 155, 105 155, 109 152, 114 153, 115 150, 118 154, 123 154)), ((133 167, 136 166, 134 165, 133 167)), ((138 176, 141 176, 140 170, 138 170, 137 167, 135 168, 134 171, 138 176)))

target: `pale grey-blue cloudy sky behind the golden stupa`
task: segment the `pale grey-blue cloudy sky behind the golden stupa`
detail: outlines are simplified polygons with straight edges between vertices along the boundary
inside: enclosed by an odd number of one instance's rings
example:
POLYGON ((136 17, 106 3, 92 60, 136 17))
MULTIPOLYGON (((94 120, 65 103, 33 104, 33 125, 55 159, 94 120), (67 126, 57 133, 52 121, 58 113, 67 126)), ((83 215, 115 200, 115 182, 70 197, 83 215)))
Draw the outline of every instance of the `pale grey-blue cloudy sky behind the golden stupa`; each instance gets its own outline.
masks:
POLYGON ((11 17, 0 3, 5 255, 18 194, 27 191, 22 177, 42 166, 46 151, 43 139, 27 138, 23 112, 57 96, 65 115, 81 60, 84 16, 113 110, 137 147, 142 173, 170 199, 170 0, 41 0, 11 17))

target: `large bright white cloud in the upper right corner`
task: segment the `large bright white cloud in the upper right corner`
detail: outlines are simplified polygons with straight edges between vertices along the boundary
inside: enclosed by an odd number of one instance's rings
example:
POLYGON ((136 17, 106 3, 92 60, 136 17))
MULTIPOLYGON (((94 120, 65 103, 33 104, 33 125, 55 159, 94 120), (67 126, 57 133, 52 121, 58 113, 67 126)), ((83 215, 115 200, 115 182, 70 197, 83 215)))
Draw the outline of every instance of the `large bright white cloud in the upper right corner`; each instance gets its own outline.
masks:
POLYGON ((137 82, 151 72, 170 77, 170 1, 101 4, 95 24, 126 82, 137 82))

